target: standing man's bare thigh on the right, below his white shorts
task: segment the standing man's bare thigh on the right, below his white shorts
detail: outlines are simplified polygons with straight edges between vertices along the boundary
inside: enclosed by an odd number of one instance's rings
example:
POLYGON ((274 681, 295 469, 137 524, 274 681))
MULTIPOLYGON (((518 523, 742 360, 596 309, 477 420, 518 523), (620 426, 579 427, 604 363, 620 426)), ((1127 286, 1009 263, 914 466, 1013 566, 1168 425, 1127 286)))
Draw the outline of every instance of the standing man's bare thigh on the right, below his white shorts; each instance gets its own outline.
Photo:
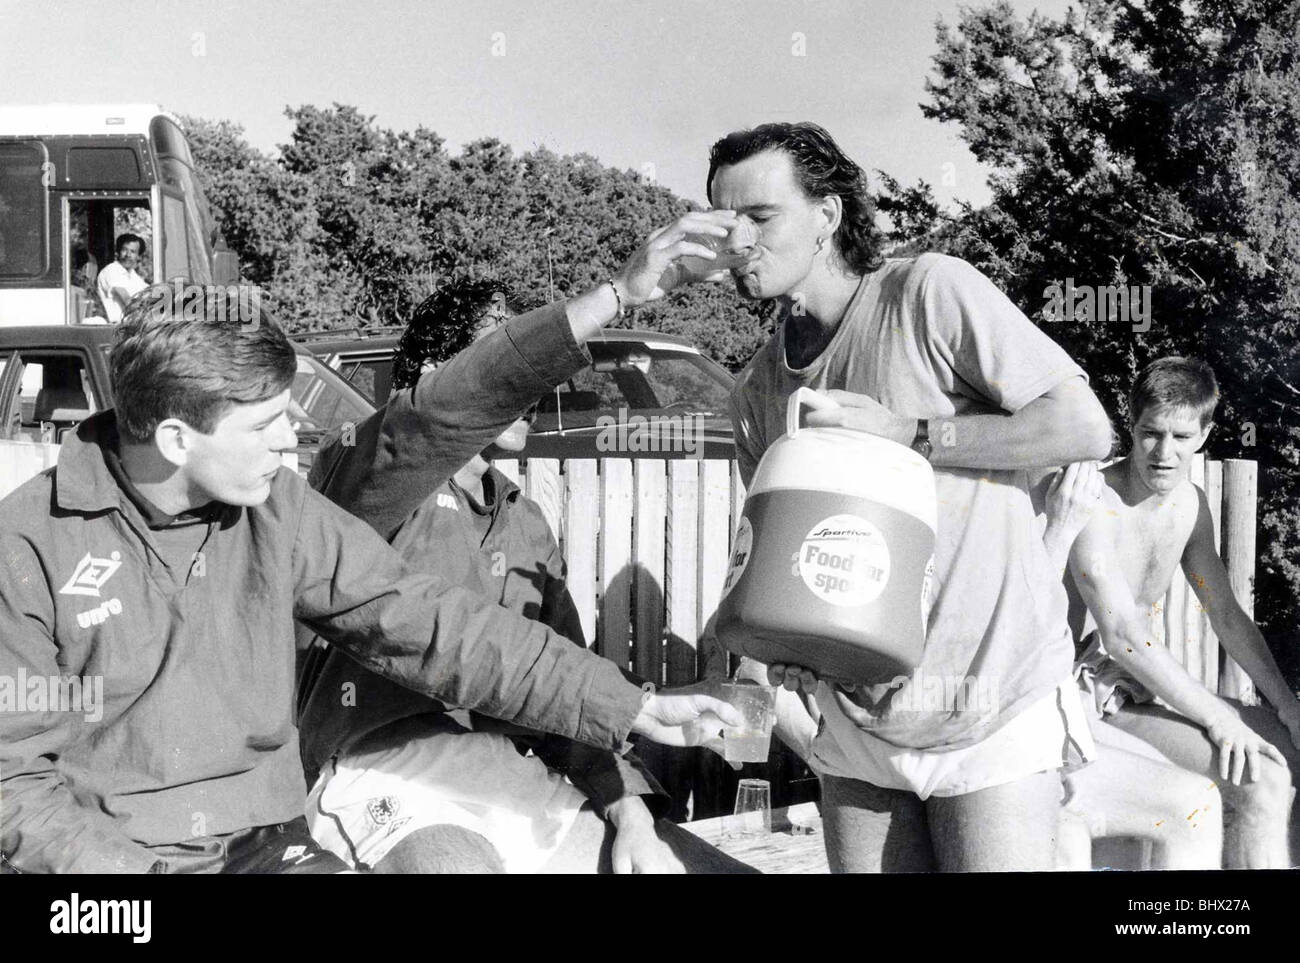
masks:
POLYGON ((926 801, 941 872, 1056 868, 1061 773, 1037 772, 1001 786, 926 801))

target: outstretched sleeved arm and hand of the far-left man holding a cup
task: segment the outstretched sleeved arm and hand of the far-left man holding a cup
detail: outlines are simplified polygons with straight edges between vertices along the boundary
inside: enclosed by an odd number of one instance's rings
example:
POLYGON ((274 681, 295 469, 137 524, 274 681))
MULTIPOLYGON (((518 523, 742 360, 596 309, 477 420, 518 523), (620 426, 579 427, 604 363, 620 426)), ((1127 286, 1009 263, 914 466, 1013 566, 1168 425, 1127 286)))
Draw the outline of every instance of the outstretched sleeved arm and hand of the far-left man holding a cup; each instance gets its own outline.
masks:
MULTIPOLYGON (((281 473, 286 485, 302 485, 281 473)), ((373 529, 303 490, 294 539, 294 616, 372 672, 422 695, 623 751, 637 732, 702 745, 688 724, 738 713, 702 691, 646 697, 619 668, 540 623, 410 571, 373 529)), ((716 728, 716 726, 715 726, 716 728)))

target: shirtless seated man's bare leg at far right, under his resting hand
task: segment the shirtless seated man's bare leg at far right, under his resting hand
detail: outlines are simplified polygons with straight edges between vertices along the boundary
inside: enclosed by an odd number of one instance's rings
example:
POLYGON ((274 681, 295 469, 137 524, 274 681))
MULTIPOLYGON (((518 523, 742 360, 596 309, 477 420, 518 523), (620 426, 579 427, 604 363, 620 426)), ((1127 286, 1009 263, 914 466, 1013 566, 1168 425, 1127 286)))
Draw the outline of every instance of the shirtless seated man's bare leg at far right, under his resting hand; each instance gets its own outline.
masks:
MULTIPOLYGON (((1258 706, 1227 700, 1264 738, 1294 755, 1291 738, 1277 715, 1258 706)), ((1228 869, 1277 869, 1290 866, 1287 821, 1291 811, 1291 773, 1261 759, 1262 775, 1234 786, 1219 782, 1218 747, 1205 729, 1158 706, 1124 706, 1106 721, 1154 746, 1184 769, 1218 782, 1223 798, 1223 862, 1228 869)))

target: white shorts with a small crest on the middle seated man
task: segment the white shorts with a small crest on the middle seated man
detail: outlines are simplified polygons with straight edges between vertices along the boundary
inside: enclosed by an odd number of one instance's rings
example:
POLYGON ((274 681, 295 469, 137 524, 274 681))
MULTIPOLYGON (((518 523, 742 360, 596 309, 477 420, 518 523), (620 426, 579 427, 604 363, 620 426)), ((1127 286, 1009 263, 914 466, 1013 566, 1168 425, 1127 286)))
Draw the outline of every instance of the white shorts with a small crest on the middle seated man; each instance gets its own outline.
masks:
POLYGON ((506 872, 532 873, 585 802, 504 736, 439 732, 330 760, 307 797, 307 824, 355 868, 374 867, 416 829, 450 824, 484 836, 506 872))

